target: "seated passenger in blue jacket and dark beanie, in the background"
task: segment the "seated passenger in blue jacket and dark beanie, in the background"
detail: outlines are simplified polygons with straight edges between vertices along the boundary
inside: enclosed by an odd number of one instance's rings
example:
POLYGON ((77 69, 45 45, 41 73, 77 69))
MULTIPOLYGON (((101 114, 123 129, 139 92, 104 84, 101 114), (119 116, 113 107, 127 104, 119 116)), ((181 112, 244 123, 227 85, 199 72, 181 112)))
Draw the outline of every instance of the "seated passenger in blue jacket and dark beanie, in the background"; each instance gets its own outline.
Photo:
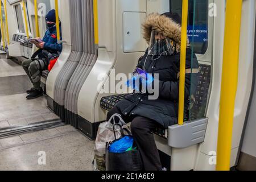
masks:
POLYGON ((44 38, 42 40, 36 38, 36 41, 31 41, 39 50, 34 53, 31 59, 22 62, 22 67, 33 85, 30 90, 27 90, 28 96, 26 98, 28 100, 43 96, 43 89, 41 88, 42 71, 48 68, 49 57, 59 57, 62 51, 62 44, 57 42, 55 10, 49 11, 46 15, 46 22, 48 29, 44 38), (38 59, 34 59, 36 56, 38 56, 38 59))

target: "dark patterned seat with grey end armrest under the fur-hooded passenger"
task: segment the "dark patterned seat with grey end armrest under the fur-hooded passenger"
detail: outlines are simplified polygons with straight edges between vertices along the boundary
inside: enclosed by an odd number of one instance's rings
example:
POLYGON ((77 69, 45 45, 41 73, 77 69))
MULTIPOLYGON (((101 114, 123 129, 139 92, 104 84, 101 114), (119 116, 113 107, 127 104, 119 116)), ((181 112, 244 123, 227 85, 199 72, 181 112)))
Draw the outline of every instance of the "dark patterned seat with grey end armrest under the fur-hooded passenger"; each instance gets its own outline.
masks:
MULTIPOLYGON (((155 134, 168 139, 168 143, 172 147, 183 148, 187 146, 191 146, 192 144, 201 143, 204 141, 204 135, 207 127, 208 119, 204 118, 205 108, 207 106, 207 97, 208 90, 210 85, 210 65, 200 64, 200 75, 199 81, 196 87, 195 99, 193 101, 193 107, 189 110, 190 119, 189 121, 184 123, 184 126, 170 126, 169 129, 156 129, 155 134), (200 119, 199 119, 200 118, 200 119), (190 122, 193 121, 193 122, 190 122), (185 138, 182 144, 176 143, 174 138, 177 135, 183 135, 183 131, 191 131, 191 136, 185 138), (168 138, 171 134, 172 138, 168 138), (194 135, 196 134, 196 135, 194 135), (196 138, 195 138, 196 136, 196 138)), ((101 98, 100 106, 102 109, 109 111, 112 109, 117 103, 124 98, 126 98, 128 94, 118 94, 113 96, 106 96, 101 98)), ((181 136, 181 138, 184 138, 181 136)))

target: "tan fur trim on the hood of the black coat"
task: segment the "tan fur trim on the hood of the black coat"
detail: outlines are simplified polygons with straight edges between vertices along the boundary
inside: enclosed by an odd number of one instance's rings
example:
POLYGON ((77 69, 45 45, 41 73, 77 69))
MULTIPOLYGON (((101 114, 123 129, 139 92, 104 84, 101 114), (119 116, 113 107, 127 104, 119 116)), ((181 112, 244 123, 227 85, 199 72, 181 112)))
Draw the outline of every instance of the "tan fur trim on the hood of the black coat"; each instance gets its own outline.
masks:
MULTIPOLYGON (((181 44, 181 26, 166 15, 152 13, 147 16, 146 21, 142 24, 143 38, 147 43, 150 42, 151 31, 155 30, 162 33, 167 38, 174 40, 176 43, 176 51, 180 52, 181 44)), ((187 46, 189 42, 187 40, 187 46)))

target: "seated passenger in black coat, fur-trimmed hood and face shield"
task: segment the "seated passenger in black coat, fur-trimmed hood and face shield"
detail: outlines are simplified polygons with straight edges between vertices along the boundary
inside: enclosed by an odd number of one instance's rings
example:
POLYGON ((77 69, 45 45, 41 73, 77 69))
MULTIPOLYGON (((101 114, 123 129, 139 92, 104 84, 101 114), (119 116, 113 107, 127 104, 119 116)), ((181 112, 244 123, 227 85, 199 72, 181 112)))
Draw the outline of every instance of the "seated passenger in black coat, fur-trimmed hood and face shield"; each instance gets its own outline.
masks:
MULTIPOLYGON (((141 153, 144 170, 162 171, 152 131, 177 124, 181 18, 170 13, 150 14, 143 23, 143 35, 149 47, 138 68, 153 76, 158 73, 159 97, 149 100, 148 94, 131 94, 109 111, 107 119, 113 114, 121 114, 125 122, 131 122, 131 133, 141 153)), ((197 84, 198 74, 191 72, 191 68, 199 68, 196 56, 193 55, 193 67, 191 58, 192 51, 187 42, 185 108, 188 108, 189 96, 197 84)))

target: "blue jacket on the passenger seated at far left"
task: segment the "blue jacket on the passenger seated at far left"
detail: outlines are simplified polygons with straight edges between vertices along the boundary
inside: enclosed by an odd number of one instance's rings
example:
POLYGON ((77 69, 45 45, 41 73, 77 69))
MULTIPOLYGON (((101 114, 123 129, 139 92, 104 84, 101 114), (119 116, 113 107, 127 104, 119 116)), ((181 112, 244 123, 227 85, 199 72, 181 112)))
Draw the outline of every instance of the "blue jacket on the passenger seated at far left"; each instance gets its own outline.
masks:
MULTIPOLYGON (((61 32, 61 23, 60 23, 60 32, 61 32)), ((61 33, 60 33, 60 40, 62 40, 61 33)), ((56 26, 48 28, 48 30, 46 31, 46 34, 44 35, 43 42, 45 42, 44 49, 46 50, 53 51, 53 52, 62 51, 62 43, 61 44, 57 43, 56 26)))

